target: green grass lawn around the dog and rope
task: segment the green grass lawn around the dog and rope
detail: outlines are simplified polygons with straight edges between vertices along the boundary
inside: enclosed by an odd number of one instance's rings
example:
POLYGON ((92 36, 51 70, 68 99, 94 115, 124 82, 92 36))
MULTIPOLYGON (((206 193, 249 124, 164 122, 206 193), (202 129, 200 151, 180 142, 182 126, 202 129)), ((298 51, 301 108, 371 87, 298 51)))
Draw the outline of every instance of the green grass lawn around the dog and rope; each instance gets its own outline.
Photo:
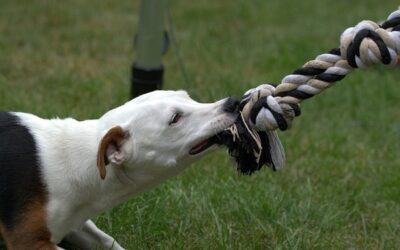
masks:
MULTIPOLYGON (((129 97, 139 1, 0 0, 0 109, 99 117, 129 97)), ((201 101, 279 82, 398 1, 171 0, 201 101)), ((166 89, 189 88, 171 50, 166 89)), ((240 176, 223 151, 94 218, 127 249, 396 249, 400 72, 357 71, 280 133, 287 166, 240 176)))

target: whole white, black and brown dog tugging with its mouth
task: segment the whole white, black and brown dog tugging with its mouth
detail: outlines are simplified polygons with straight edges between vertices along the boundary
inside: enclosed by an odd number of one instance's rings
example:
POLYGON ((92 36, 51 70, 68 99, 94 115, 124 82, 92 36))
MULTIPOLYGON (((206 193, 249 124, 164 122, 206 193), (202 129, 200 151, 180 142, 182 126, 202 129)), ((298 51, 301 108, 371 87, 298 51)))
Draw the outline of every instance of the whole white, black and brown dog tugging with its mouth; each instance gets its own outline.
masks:
POLYGON ((0 238, 8 249, 123 249, 90 220, 217 148, 238 101, 154 91, 97 120, 0 113, 0 238))

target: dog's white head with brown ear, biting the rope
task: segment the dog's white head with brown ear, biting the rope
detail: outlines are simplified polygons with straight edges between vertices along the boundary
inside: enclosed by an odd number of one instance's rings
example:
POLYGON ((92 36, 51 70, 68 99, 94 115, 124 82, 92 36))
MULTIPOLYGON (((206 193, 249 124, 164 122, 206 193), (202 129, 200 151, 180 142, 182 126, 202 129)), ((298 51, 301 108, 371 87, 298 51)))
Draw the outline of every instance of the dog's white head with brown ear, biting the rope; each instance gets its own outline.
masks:
POLYGON ((153 91, 99 120, 97 165, 163 173, 179 169, 217 144, 216 135, 238 115, 238 101, 198 103, 185 91, 153 91))

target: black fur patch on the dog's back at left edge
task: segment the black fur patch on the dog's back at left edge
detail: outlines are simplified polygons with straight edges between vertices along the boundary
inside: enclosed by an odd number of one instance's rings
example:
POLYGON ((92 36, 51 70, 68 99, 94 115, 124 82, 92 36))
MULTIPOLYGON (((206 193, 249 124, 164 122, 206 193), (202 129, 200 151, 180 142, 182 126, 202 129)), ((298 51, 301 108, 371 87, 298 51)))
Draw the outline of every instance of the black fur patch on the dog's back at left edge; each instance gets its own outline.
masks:
POLYGON ((18 116, 0 112, 0 221, 11 230, 34 199, 43 199, 35 140, 18 116))

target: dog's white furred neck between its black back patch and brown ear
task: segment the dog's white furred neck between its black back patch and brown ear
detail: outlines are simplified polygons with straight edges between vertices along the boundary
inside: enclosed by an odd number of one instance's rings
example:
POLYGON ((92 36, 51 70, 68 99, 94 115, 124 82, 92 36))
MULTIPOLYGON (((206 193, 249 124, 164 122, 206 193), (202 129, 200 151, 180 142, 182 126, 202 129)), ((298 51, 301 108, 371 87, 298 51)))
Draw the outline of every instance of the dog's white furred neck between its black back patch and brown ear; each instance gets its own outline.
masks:
POLYGON ((57 228, 52 231, 60 233, 53 235, 55 241, 71 228, 160 181, 150 173, 136 173, 111 164, 107 165, 107 175, 102 180, 96 164, 102 137, 99 120, 27 119, 32 120, 34 133, 46 131, 35 133, 39 141, 47 141, 39 145, 52 145, 42 149, 45 155, 41 158, 49 192, 49 227, 57 228), (65 160, 60 162, 60 159, 65 160))

